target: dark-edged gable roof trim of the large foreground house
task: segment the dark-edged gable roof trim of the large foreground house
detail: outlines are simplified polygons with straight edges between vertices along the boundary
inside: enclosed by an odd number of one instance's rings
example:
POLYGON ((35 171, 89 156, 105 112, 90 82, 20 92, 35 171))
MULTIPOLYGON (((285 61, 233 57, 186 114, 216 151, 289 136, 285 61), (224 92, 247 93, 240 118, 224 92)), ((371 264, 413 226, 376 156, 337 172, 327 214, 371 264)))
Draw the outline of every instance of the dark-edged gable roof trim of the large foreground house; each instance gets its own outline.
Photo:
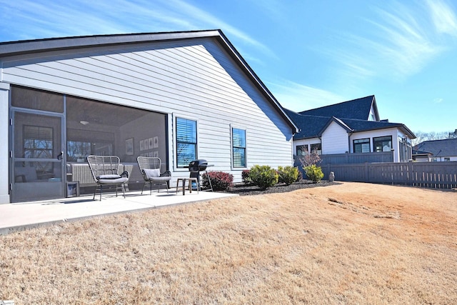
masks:
POLYGON ((94 36, 72 36, 51 39, 34 39, 24 41, 0 42, 0 58, 22 54, 36 54, 47 51, 63 51, 68 49, 92 48, 94 46, 115 46, 121 44, 139 44, 157 41, 176 41, 188 39, 212 38, 229 54, 231 59, 241 68, 253 85, 263 94, 273 108, 291 127, 292 133, 298 132, 298 126, 286 114, 285 109, 258 78, 241 54, 231 44, 220 29, 205 31, 174 31, 140 34, 112 34, 94 36))

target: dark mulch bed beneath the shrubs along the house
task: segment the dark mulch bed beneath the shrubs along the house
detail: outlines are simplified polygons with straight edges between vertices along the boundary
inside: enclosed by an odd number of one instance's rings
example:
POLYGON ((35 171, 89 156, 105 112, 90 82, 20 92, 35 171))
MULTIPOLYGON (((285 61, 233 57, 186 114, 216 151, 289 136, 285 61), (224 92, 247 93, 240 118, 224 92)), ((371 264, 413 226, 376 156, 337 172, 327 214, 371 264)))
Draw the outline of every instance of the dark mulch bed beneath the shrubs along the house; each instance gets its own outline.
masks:
POLYGON ((338 184, 338 182, 320 181, 318 183, 313 183, 313 181, 301 180, 294 182, 291 185, 276 184, 275 186, 269 187, 268 189, 260 189, 258 186, 251 186, 245 184, 235 184, 226 192, 238 194, 240 196, 246 196, 258 194, 285 193, 288 191, 295 191, 296 189, 307 189, 316 186, 330 186, 335 184, 338 184))

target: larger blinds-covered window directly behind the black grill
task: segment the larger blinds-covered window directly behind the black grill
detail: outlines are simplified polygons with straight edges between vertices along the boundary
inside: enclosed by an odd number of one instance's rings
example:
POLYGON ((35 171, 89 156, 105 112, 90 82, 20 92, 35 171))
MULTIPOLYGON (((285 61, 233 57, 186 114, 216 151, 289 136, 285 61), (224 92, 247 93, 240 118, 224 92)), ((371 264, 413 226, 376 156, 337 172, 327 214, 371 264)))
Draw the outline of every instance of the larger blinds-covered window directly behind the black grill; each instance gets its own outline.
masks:
POLYGON ((176 118, 176 164, 189 166, 197 159, 197 122, 176 118))

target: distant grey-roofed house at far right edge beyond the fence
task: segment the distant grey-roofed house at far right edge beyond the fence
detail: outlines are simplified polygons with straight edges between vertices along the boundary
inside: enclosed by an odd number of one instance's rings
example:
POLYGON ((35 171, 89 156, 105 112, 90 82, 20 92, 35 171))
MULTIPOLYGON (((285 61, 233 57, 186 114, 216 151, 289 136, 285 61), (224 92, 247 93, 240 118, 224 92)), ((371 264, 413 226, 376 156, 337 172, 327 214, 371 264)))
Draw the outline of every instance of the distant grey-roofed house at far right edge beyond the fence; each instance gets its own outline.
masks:
POLYGON ((414 149, 431 155, 430 158, 423 159, 420 154, 415 154, 413 157, 416 157, 416 161, 457 161, 457 139, 423 141, 414 149))

